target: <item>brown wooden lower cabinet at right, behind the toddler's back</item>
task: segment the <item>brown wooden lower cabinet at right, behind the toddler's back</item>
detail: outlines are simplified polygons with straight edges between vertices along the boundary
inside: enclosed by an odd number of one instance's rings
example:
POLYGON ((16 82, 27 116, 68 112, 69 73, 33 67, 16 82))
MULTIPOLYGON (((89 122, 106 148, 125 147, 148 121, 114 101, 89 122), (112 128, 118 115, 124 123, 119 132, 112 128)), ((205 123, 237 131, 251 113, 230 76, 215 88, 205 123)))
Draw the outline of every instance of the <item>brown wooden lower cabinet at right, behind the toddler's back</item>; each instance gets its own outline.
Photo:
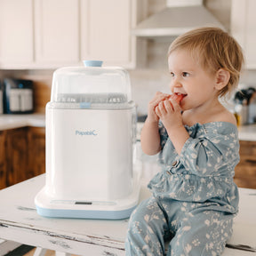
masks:
POLYGON ((256 141, 240 141, 240 163, 236 165, 235 182, 241 188, 256 188, 256 141))

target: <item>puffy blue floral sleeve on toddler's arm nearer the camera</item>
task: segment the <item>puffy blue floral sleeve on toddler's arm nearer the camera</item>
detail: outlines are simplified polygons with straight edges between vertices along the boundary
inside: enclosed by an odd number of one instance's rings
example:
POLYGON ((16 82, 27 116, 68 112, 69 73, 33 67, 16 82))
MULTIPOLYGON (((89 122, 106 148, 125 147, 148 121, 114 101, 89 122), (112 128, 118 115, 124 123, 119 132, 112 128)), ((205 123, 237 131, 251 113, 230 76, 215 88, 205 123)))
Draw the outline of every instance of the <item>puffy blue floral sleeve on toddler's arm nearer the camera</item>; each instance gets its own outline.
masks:
POLYGON ((196 129, 199 132, 196 136, 193 134, 195 129, 191 130, 180 153, 180 162, 186 170, 201 177, 226 176, 234 172, 239 162, 237 129, 233 124, 223 123, 196 124, 201 125, 196 129))

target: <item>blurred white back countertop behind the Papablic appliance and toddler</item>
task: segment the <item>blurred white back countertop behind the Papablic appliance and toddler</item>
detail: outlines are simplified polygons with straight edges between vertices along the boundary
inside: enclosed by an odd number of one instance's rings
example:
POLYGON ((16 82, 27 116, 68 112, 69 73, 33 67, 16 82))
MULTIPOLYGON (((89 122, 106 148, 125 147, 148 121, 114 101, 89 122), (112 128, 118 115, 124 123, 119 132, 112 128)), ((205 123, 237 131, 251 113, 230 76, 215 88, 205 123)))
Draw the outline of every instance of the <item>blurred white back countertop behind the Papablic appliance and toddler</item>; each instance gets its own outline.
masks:
MULTIPOLYGON (((0 131, 20 128, 24 126, 45 127, 44 114, 29 115, 0 115, 0 131)), ((137 139, 140 139, 140 131, 143 123, 137 124, 137 139)), ((239 140, 256 141, 256 124, 243 125, 238 127, 239 140)))

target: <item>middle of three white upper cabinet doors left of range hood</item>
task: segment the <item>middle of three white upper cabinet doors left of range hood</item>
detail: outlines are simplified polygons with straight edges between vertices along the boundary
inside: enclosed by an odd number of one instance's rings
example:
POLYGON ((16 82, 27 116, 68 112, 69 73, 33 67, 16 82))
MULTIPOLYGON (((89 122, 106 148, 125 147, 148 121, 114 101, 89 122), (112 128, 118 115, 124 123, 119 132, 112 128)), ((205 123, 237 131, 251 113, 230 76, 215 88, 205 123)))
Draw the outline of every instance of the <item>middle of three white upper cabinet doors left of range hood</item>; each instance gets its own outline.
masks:
POLYGON ((36 64, 79 61, 79 1, 35 0, 36 64))

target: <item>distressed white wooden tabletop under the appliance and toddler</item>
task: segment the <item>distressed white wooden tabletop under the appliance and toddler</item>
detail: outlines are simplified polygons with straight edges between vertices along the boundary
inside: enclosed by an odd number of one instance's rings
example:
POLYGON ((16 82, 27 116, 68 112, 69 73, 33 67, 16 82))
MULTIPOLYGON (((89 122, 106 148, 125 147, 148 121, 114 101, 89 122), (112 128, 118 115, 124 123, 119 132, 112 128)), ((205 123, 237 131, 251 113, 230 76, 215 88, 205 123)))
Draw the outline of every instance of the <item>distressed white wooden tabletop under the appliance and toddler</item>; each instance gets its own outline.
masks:
MULTIPOLYGON (((44 174, 0 191, 0 238, 65 252, 67 255, 125 254, 124 238, 128 220, 41 217, 36 213, 34 198, 43 186, 44 174)), ((141 199, 149 196, 147 188, 143 186, 140 194, 141 199)), ((228 241, 224 256, 256 255, 256 189, 240 188, 239 206, 234 235, 228 241)))

